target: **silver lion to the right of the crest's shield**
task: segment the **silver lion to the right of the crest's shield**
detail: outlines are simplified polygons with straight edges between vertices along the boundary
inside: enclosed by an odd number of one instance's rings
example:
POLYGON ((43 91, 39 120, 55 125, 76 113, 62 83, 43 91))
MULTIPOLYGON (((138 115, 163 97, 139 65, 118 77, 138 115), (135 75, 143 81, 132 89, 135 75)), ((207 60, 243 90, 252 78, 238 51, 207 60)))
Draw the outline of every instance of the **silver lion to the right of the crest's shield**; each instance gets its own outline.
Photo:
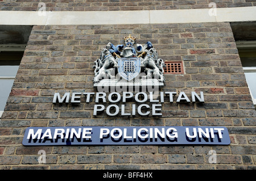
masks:
POLYGON ((159 82, 165 82, 163 76, 164 67, 166 67, 166 65, 161 58, 158 59, 158 52, 156 52, 155 48, 150 48, 147 50, 146 56, 142 58, 141 68, 142 71, 146 73, 146 76, 143 76, 142 78, 155 78, 158 79, 159 82))

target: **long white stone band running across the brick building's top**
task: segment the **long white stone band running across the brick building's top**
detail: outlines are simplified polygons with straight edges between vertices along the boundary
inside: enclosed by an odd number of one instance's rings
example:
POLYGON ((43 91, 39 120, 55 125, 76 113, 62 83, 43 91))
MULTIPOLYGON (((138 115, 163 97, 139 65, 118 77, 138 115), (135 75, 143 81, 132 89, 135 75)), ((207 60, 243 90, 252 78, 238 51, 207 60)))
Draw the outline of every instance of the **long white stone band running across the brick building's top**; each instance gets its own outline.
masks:
POLYGON ((256 6, 216 9, 144 10, 144 11, 0 11, 0 24, 148 24, 148 23, 210 23, 256 20, 256 6), (5 18, 3 18, 5 17, 5 18))

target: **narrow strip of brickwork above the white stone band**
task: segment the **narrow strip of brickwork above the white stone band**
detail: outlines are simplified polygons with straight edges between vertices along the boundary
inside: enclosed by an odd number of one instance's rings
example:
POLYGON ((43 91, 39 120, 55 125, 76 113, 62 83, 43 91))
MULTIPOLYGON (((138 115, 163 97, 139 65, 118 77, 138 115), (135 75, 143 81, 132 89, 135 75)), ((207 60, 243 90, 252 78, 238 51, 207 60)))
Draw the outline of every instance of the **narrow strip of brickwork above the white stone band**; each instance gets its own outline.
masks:
POLYGON ((205 9, 210 2, 218 8, 256 6, 254 0, 3 0, 0 10, 36 11, 38 3, 46 3, 47 11, 126 11, 126 10, 172 10, 172 9, 205 9))

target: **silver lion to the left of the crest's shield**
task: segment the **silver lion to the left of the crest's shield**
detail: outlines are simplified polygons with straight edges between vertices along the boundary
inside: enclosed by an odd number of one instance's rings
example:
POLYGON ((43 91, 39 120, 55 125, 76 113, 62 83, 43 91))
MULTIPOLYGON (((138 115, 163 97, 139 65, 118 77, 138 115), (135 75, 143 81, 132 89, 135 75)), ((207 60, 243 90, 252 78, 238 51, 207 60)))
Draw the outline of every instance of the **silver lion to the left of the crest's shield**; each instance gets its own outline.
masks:
POLYGON ((98 83, 101 79, 105 78, 114 79, 114 72, 117 66, 118 64, 109 50, 106 48, 102 49, 100 58, 94 61, 95 77, 93 78, 93 83, 98 83))

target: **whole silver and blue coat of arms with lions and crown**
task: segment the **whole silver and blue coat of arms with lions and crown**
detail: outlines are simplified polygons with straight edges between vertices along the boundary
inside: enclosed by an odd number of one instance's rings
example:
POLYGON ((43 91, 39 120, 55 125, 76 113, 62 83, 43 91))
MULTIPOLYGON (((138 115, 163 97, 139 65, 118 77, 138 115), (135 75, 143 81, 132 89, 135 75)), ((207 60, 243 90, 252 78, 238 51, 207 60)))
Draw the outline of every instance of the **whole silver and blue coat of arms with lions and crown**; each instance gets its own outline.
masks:
POLYGON ((102 49, 100 58, 94 61, 94 85, 103 79, 134 81, 135 79, 156 79, 164 83, 164 61, 148 41, 144 46, 135 44, 134 36, 126 36, 125 45, 108 43, 102 49))

